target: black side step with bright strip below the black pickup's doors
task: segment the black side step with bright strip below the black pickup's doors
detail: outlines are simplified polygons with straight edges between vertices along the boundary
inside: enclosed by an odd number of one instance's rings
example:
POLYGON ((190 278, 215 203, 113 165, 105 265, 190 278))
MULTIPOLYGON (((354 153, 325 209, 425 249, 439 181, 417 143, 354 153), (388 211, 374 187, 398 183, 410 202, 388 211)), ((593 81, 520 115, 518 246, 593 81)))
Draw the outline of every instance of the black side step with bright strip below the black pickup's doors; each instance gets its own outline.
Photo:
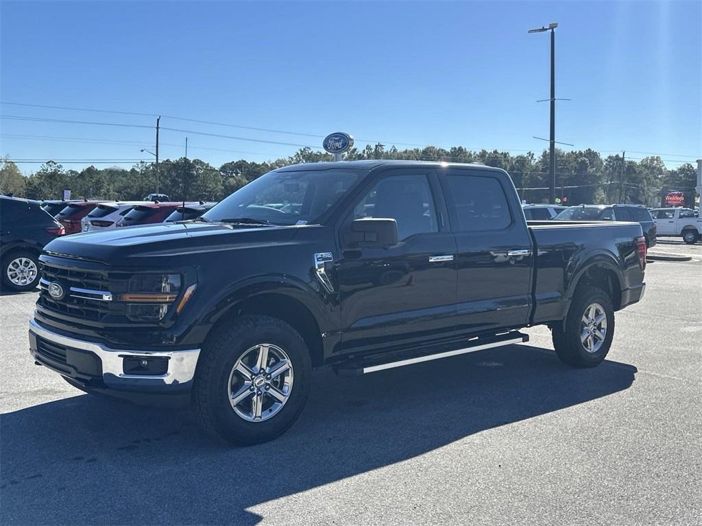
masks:
MULTIPOLYGON (((522 334, 522 332, 515 330, 502 335, 470 339, 468 340, 470 345, 463 347, 462 349, 425 354, 423 356, 416 356, 415 353, 415 356, 412 356, 411 358, 408 358, 405 354, 402 356, 401 360, 395 360, 392 362, 383 361, 383 358, 387 360, 390 358, 389 356, 375 356, 374 358, 366 359, 359 358, 357 360, 350 360, 350 362, 337 365, 334 367, 334 369, 339 375, 342 376, 366 375, 369 372, 392 369, 393 367, 402 367, 403 365, 411 365, 413 363, 428 362, 430 360, 439 360, 440 358, 449 358, 449 356, 458 356, 459 354, 472 353, 475 351, 482 351, 484 349, 494 349, 495 347, 521 344, 524 342, 529 342, 529 335, 522 334)), ((400 356, 395 355, 395 358, 399 357, 400 356)))

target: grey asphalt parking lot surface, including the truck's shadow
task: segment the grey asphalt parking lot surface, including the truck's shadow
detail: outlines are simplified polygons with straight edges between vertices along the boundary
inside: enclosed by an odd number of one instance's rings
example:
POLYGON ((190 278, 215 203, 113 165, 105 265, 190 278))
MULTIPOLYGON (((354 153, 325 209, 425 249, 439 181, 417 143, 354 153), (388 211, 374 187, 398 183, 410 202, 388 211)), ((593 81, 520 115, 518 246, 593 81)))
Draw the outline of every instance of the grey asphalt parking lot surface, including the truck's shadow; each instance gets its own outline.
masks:
POLYGON ((702 523, 702 244, 654 250, 608 359, 529 344, 366 377, 314 374, 282 438, 229 448, 187 412, 84 395, 27 352, 36 293, 0 297, 0 522, 702 523))

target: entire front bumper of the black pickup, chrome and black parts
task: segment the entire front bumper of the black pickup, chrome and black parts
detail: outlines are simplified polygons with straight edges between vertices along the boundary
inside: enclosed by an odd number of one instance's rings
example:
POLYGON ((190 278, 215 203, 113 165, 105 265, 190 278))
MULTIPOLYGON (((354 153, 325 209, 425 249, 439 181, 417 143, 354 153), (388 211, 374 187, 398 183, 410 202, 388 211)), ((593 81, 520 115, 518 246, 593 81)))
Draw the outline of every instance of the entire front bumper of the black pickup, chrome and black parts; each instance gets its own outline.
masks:
POLYGON ((192 386, 200 349, 112 349, 58 334, 32 319, 29 353, 41 365, 86 389, 177 393, 192 386), (146 365, 141 367, 142 363, 146 365), (150 374, 150 370, 158 370, 158 374, 150 374))

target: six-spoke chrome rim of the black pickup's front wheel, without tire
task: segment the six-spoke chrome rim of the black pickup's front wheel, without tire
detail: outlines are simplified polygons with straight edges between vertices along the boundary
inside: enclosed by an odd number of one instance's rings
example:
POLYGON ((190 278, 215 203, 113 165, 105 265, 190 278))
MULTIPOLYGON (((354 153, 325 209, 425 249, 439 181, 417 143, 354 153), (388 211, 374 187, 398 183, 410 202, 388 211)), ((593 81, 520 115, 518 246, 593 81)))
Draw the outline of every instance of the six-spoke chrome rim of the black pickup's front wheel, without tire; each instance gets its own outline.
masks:
POLYGON ((248 422, 262 422, 274 417, 288 401, 293 365, 280 347, 258 344, 234 364, 228 386, 234 412, 248 422))

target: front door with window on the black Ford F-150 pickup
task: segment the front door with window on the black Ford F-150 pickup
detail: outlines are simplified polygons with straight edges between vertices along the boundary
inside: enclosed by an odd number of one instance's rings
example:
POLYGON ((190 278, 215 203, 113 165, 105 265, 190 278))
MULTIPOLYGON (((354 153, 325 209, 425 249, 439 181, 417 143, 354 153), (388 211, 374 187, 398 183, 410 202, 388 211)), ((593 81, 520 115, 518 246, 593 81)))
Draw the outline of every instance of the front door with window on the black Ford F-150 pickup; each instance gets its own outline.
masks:
POLYGON ((442 224, 442 199, 433 170, 392 169, 345 215, 340 231, 361 217, 394 218, 398 243, 342 250, 335 268, 343 351, 434 340, 455 329, 456 241, 442 224))

